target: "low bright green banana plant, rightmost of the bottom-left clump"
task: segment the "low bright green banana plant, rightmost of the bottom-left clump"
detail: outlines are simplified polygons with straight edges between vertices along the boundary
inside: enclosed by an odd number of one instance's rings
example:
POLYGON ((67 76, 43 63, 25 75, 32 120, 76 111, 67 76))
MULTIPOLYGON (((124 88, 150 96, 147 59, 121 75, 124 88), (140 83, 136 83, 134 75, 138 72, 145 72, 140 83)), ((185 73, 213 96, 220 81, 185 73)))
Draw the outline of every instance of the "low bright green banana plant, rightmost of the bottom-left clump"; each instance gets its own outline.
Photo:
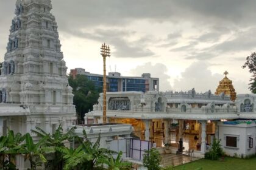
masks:
POLYGON ((108 170, 130 169, 130 167, 132 166, 131 163, 122 161, 121 160, 122 155, 123 155, 123 152, 120 151, 116 159, 113 158, 112 155, 110 155, 110 157, 101 157, 99 158, 98 163, 107 165, 108 170))

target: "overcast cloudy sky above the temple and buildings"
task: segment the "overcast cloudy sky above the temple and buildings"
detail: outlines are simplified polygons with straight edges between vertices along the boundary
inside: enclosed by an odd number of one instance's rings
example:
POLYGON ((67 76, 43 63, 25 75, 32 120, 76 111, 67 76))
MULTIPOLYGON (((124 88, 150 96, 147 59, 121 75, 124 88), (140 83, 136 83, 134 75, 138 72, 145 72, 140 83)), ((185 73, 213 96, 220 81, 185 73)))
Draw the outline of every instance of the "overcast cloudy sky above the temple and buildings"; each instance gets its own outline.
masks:
MULTIPOLYGON (((160 90, 215 92, 233 81, 249 93, 241 66, 256 52, 255 0, 52 0, 69 69, 102 73, 100 47, 111 49, 107 72, 151 73, 160 90)), ((0 0, 0 61, 4 60, 15 0, 0 0)))

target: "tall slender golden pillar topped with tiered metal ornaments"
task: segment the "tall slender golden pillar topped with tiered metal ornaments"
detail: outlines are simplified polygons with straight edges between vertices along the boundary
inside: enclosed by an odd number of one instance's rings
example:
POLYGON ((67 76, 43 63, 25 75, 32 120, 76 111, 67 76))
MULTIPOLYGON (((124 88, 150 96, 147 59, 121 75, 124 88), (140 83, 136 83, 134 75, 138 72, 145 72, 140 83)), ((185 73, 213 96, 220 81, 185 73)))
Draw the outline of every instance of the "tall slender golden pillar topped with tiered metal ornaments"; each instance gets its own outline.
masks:
POLYGON ((103 57, 103 123, 107 123, 107 101, 106 101, 106 91, 107 91, 107 76, 106 76, 106 58, 110 57, 109 46, 102 44, 101 55, 103 57))

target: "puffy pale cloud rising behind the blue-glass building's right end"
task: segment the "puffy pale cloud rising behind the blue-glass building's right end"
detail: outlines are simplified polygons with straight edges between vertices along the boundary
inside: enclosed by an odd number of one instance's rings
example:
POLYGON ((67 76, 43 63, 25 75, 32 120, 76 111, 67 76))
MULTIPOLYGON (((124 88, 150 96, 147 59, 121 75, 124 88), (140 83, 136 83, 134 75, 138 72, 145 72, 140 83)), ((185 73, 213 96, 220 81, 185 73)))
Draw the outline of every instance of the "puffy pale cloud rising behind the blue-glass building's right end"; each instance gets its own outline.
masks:
POLYGON ((130 73, 134 76, 141 75, 142 73, 151 73, 151 77, 157 77, 160 80, 160 90, 171 90, 171 84, 169 82, 169 75, 165 64, 156 63, 152 64, 151 62, 145 63, 141 66, 137 66, 135 69, 130 70, 130 73))

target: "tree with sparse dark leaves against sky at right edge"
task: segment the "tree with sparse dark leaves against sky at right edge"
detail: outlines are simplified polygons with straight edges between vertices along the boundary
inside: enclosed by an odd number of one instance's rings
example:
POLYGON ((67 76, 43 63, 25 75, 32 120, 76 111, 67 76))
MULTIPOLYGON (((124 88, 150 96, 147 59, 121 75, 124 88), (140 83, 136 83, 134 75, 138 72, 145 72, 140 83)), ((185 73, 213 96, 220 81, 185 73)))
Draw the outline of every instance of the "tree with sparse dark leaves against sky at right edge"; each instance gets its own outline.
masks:
POLYGON ((252 93, 256 94, 256 53, 252 53, 250 56, 247 56, 246 63, 242 66, 242 68, 248 67, 249 72, 252 73, 252 78, 249 83, 249 90, 252 93))

